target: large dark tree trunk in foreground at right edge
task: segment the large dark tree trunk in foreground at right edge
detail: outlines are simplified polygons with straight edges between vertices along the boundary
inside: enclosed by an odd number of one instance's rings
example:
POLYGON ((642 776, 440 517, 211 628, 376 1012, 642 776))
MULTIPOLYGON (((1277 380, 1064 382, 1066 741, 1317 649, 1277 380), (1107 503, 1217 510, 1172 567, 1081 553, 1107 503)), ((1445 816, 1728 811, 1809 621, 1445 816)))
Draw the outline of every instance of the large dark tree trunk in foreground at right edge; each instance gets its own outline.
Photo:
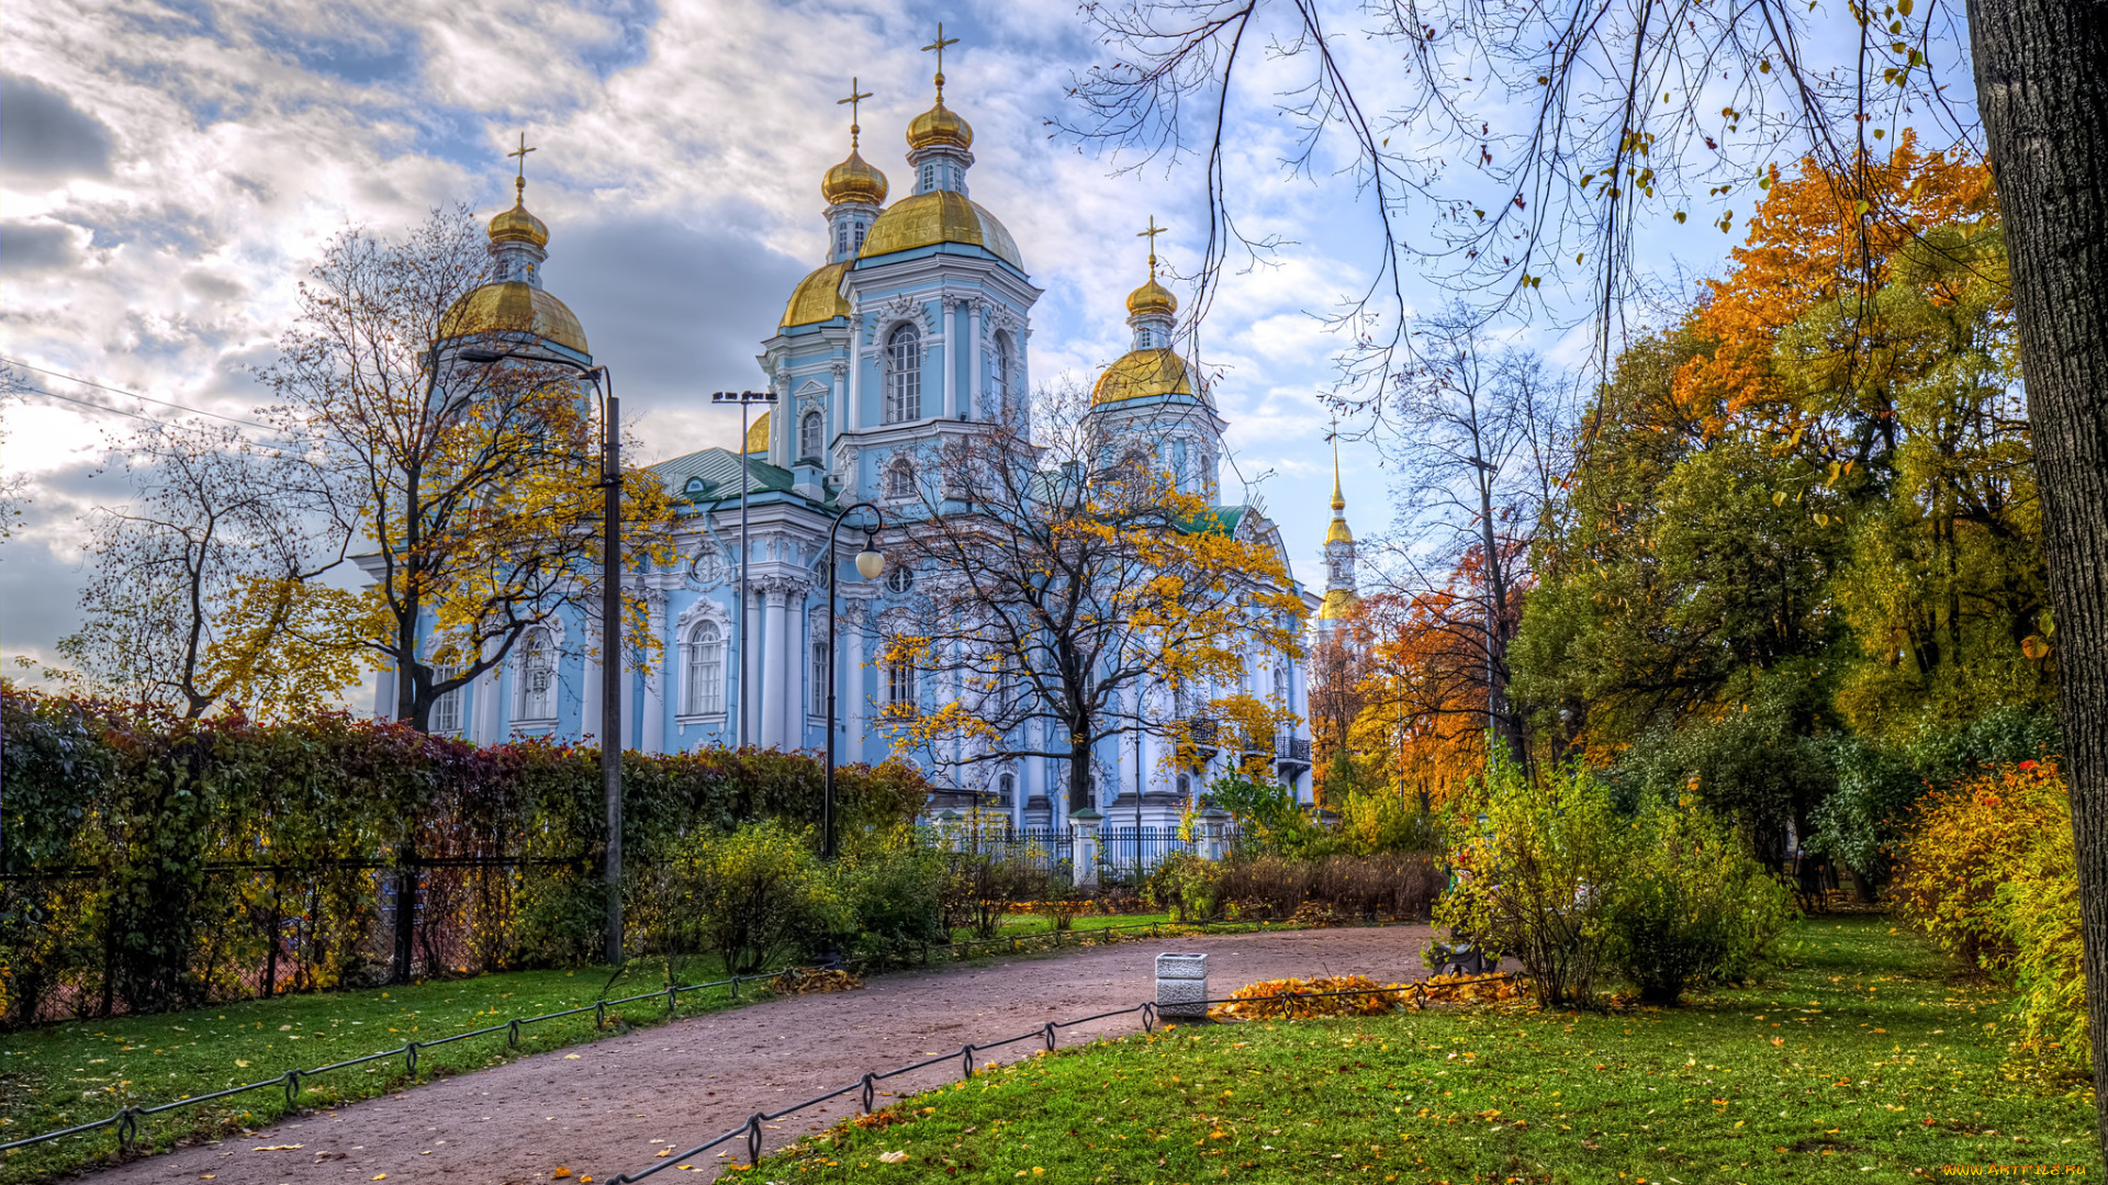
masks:
MULTIPOLYGON (((2108 4, 1969 0, 1969 32, 2013 261, 2108 1107, 2108 4)), ((2097 1132, 2108 1147, 2108 1111, 2097 1132)))

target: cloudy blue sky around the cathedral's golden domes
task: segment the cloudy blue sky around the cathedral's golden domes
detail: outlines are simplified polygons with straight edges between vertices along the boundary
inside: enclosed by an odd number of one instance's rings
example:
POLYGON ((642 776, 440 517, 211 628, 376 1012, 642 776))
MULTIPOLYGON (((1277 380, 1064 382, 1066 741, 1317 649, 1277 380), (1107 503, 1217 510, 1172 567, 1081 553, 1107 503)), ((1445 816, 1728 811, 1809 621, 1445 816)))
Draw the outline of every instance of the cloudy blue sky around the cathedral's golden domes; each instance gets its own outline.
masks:
MULTIPOLYGON (((527 205, 550 228, 544 278, 620 380, 645 462, 731 445, 708 392, 759 386, 759 344, 822 261, 820 175, 847 150, 854 76, 864 156, 911 190, 902 131, 930 105, 917 46, 938 21, 946 101, 974 124, 974 198, 1033 283, 1035 382, 1090 382, 1128 346, 1149 217, 1170 270, 1206 234, 1191 162, 1128 169, 1062 139, 1067 86, 1107 48, 1075 4, 1039 0, 114 0, 0 8, 0 356, 221 415, 266 401, 255 369, 291 325, 301 274, 346 228, 401 232, 434 207, 527 205)), ((1364 46, 1362 53, 1372 53, 1364 46)), ((1267 61, 1233 108, 1229 175, 1246 228, 1282 236, 1233 268, 1204 325, 1229 422, 1225 500, 1261 500, 1296 576, 1324 584, 1332 460, 1320 394, 1341 339, 1324 316, 1368 283, 1372 226, 1294 131, 1267 61)), ((1697 221, 1697 219, 1693 219, 1697 221)), ((1691 238, 1693 266, 1724 242, 1691 238)), ((1663 251, 1659 242, 1651 245, 1663 251)), ((1174 285, 1180 297, 1189 289, 1174 285)), ((1414 299, 1440 293, 1414 291, 1414 299)), ((1554 358, 1568 344, 1547 342, 1554 358)), ((4 470, 30 493, 0 544, 0 654, 51 658, 78 622, 95 506, 137 420, 179 411, 27 371, 4 470), (97 403, 105 409, 84 407, 97 403)), ((1393 519, 1377 451, 1343 453, 1349 521, 1393 519)))

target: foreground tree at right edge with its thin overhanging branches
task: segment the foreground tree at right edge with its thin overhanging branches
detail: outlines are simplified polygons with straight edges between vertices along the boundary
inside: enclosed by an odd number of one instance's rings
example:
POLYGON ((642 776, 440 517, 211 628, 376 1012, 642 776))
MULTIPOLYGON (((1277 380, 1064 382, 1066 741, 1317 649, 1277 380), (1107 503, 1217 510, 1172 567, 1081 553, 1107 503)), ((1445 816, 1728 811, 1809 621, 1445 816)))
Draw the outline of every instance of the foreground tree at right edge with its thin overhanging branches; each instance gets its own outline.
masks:
MULTIPOLYGON (((1901 226, 1906 215, 1861 183, 1870 150, 1906 124, 1944 124, 1963 139, 1982 131, 2015 280, 2060 639, 2087 1002, 2102 1016, 2108 308, 2097 280, 2108 274, 2108 15, 2087 0, 1914 6, 1385 0, 1334 13, 1307 0, 1105 4, 1090 15, 1115 61, 1079 86, 1088 116, 1075 131, 1145 156, 1204 158, 1214 213, 1204 283, 1212 287, 1229 251, 1277 247, 1240 234, 1240 194, 1225 169, 1242 141, 1227 127, 1237 110, 1231 86, 1265 78, 1301 124, 1288 169, 1315 171, 1324 152, 1324 167, 1360 183, 1374 211, 1368 297, 1383 308, 1343 316, 1355 329, 1347 354, 1358 375, 1374 380, 1408 346, 1404 268, 1478 293, 1488 314, 1524 312, 1545 278, 1558 291, 1570 255, 1575 278, 1592 280, 1596 350, 1608 371, 1636 289, 1632 245, 1646 219, 1680 224, 1710 209, 1729 232, 1764 164, 1807 154, 1842 179, 1855 234, 1901 226), (1334 17, 1395 53, 1345 53, 1343 30, 1328 25, 1334 17), (1849 53, 1830 67, 1811 46, 1849 53), (1252 70, 1254 55, 1269 55, 1269 70, 1252 70), (1305 76, 1286 80, 1282 72, 1294 65, 1305 76), (1973 72, 1975 112, 1952 99, 1963 70, 1973 72)), ((1204 293, 1197 306, 1206 304, 1204 293)), ((2108 1143, 2108 1025, 2091 1033, 2097 1134, 2108 1143)))

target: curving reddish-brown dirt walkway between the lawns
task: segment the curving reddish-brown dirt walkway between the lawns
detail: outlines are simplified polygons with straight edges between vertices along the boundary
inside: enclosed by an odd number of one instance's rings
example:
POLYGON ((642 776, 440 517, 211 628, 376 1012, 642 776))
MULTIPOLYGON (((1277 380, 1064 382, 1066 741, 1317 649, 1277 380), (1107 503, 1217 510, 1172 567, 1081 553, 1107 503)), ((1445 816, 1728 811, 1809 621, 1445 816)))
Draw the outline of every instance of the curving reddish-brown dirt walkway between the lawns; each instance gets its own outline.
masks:
MULTIPOLYGON (((1423 978, 1425 926, 1301 930, 1119 943, 993 966, 949 966, 890 974, 864 991, 801 995, 677 1021, 447 1077, 403 1094, 280 1122, 255 1137, 179 1149, 95 1174, 97 1185, 200 1181, 215 1185, 390 1183, 502 1185, 548 1181, 557 1166, 573 1179, 605 1181, 651 1164, 664 1147, 685 1149, 731 1130, 755 1111, 774 1111, 864 1071, 885 1071, 928 1054, 957 1052, 1151 999, 1159 951, 1206 951, 1214 995, 1261 978, 1370 974, 1423 978), (268 1145, 272 1151, 257 1151, 268 1145)), ((1138 1029, 1134 1016, 1065 1029, 1065 1044, 1138 1029)), ((1012 1061, 1033 1044, 1003 1050, 1012 1061)), ((951 1061, 892 1080, 913 1094, 959 1077, 951 1061)), ((883 1105, 883 1103, 881 1103, 883 1105)), ((769 1124, 767 1147, 856 1111, 847 1094, 826 1107, 769 1124)), ((666 1181, 710 1181, 729 1155, 704 1153, 696 1172, 666 1181)))

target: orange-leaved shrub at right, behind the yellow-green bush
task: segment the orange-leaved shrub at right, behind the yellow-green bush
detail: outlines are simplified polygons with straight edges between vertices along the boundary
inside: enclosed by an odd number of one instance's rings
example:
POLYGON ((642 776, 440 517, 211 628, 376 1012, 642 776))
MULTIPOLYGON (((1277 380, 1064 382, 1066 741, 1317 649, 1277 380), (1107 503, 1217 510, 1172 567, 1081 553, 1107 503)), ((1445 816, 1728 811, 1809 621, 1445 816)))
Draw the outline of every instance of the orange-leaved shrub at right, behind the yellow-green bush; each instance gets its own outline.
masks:
POLYGON ((2068 843, 2070 831, 2070 799, 2049 763, 2019 761, 1933 791, 1897 852, 1895 905, 1939 949, 2005 970, 2017 943, 1998 915, 1998 886, 2038 865, 2053 835, 2068 843))

